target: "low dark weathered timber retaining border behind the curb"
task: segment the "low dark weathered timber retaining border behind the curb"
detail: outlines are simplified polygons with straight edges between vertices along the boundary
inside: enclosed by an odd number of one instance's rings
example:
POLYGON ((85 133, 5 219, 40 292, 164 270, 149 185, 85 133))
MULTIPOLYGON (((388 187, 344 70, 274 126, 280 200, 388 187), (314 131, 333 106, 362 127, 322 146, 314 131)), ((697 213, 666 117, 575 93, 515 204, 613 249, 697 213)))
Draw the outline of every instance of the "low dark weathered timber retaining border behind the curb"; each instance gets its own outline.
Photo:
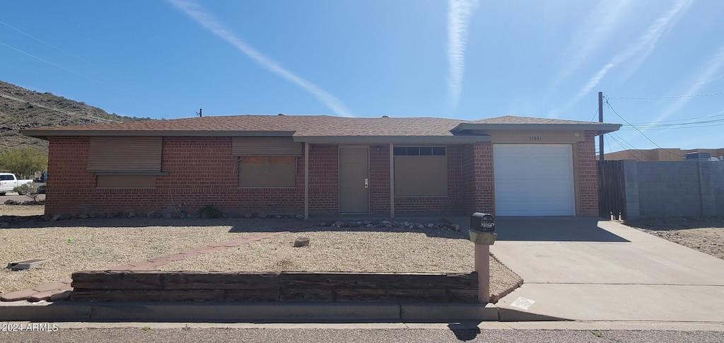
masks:
POLYGON ((79 271, 72 279, 71 300, 478 302, 475 272, 79 271))

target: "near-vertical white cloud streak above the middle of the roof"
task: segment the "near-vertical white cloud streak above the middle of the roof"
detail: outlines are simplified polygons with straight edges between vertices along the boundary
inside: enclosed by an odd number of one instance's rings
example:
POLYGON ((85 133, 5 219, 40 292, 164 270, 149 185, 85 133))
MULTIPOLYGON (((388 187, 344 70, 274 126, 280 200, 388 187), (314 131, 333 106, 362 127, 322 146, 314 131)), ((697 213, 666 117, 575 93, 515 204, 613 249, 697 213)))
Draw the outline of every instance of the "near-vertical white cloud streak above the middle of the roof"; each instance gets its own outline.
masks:
POLYGON ((468 41, 468 23, 477 7, 477 0, 447 1, 447 62, 450 75, 447 77, 447 93, 450 111, 455 111, 463 91, 465 72, 465 47, 468 41))

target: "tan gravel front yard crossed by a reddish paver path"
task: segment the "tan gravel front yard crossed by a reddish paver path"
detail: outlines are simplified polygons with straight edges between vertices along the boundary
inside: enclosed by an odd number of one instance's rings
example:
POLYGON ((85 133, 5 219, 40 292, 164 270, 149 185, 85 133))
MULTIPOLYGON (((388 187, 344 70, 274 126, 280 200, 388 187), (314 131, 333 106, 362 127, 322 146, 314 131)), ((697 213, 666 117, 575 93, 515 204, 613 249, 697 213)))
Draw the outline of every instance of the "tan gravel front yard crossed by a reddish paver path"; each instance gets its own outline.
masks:
MULTIPOLYGON (((3 206, 27 211, 29 206, 3 206), (22 208, 21 208, 22 207, 22 208)), ((19 215, 2 211, 2 215, 19 215)), ((27 213, 28 215, 38 213, 27 213)), ((72 219, 28 222, 0 229, 0 263, 28 258, 50 261, 25 271, 0 270, 0 293, 70 278, 75 271, 106 270, 147 261, 255 232, 287 231, 295 219, 72 219)), ((313 224, 313 223, 311 223, 313 224)), ((473 243, 439 229, 332 229, 313 227, 175 261, 167 271, 397 271, 471 272, 473 243), (292 247, 309 237, 308 247, 292 247)), ((491 259, 491 292, 500 294, 520 277, 491 259)))

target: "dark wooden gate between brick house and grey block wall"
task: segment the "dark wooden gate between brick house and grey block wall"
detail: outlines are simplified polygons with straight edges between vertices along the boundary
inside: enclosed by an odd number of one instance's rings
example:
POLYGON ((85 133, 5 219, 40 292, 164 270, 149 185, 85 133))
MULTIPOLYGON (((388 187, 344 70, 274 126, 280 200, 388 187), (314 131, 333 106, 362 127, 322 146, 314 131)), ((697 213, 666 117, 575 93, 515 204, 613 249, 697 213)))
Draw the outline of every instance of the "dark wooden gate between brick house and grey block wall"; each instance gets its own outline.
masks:
POLYGON ((626 219, 623 161, 598 161, 598 213, 605 219, 626 219))

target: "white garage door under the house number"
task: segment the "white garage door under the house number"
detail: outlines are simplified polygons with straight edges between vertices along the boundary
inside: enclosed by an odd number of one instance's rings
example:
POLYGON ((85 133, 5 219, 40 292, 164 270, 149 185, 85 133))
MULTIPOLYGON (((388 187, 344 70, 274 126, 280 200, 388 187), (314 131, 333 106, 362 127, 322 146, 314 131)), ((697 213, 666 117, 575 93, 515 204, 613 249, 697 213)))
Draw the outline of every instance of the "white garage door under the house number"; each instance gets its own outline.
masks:
POLYGON ((573 216, 571 145, 493 145, 497 216, 573 216))

